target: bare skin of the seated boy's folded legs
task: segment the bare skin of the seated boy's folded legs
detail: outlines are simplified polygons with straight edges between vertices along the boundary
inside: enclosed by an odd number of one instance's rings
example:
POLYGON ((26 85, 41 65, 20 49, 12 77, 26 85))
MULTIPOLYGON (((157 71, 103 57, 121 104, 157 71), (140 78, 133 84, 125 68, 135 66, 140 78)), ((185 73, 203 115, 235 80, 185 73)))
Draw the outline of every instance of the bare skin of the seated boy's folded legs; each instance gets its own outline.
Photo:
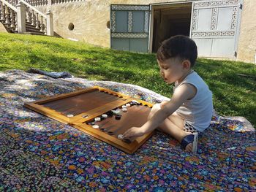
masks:
MULTIPOLYGON (((154 113, 156 113, 160 109, 158 104, 155 104, 151 109, 150 114, 148 115, 148 119, 151 118, 154 113)), ((178 140, 181 143, 181 140, 189 134, 187 131, 184 131, 184 120, 180 118, 176 113, 170 115, 168 118, 164 120, 164 122, 158 127, 159 130, 165 132, 166 134, 170 134, 170 136, 174 137, 174 139, 178 140), (174 123, 175 122, 175 123, 174 123)), ((186 151, 192 151, 192 144, 190 143, 186 147, 186 151)))

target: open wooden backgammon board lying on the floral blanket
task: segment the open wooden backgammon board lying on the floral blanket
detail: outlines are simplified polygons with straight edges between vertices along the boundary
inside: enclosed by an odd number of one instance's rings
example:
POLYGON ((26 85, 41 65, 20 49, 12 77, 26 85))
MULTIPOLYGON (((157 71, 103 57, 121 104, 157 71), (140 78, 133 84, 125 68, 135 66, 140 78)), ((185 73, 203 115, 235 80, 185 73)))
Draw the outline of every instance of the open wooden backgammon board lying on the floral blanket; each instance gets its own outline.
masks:
POLYGON ((124 134, 132 126, 142 126, 146 123, 152 105, 97 86, 24 104, 31 110, 78 128, 127 153, 138 150, 151 137, 153 131, 134 140, 118 139, 118 135, 124 134), (126 104, 132 106, 127 107, 127 112, 123 112, 121 107, 126 104), (109 115, 99 122, 94 121, 94 118, 118 109, 121 112, 120 120, 116 119, 116 115, 109 115), (99 128, 93 128, 91 123, 99 128))

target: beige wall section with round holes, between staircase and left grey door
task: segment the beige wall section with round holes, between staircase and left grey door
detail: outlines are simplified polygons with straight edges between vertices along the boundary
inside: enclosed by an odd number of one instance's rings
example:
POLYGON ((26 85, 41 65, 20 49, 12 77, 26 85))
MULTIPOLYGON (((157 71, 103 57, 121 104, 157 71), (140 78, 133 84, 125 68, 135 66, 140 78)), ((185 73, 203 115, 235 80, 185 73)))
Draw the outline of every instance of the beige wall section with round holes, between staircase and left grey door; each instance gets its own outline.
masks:
MULTIPOLYGON (((80 1, 67 4, 54 4, 50 7, 53 12, 53 28, 61 37, 78 39, 92 45, 110 47, 110 4, 151 4, 163 0, 99 0, 80 1), (70 31, 69 23, 75 28, 70 31)), ((41 12, 47 12, 48 7, 37 7, 41 12)))

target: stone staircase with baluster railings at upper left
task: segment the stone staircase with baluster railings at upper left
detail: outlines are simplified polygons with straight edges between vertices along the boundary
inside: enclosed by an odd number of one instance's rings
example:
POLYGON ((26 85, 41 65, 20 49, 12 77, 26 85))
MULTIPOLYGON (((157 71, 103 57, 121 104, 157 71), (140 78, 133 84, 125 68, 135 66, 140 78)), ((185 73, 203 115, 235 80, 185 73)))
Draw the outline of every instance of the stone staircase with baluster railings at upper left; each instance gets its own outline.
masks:
POLYGON ((23 0, 0 0, 0 22, 10 33, 53 36, 53 15, 23 0))

